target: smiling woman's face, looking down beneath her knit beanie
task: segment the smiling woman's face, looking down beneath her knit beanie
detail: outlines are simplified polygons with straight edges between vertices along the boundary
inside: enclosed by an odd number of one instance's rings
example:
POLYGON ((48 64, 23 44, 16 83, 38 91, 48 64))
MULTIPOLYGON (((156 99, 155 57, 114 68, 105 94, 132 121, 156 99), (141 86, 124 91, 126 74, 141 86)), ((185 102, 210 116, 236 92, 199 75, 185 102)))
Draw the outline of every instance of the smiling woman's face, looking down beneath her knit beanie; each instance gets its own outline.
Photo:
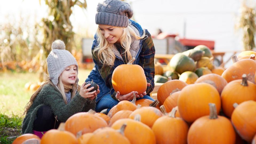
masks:
POLYGON ((109 43, 120 43, 120 38, 123 34, 123 29, 121 27, 99 25, 99 30, 101 30, 101 34, 107 41, 109 41, 109 43))

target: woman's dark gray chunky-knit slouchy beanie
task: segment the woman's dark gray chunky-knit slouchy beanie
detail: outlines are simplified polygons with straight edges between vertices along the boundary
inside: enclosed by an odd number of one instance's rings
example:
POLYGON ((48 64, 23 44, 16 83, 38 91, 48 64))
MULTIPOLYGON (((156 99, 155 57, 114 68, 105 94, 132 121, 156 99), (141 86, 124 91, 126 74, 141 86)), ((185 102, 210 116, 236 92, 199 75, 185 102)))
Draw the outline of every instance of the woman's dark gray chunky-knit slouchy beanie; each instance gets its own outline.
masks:
POLYGON ((120 0, 106 0, 98 4, 96 24, 127 27, 133 16, 129 3, 120 0))

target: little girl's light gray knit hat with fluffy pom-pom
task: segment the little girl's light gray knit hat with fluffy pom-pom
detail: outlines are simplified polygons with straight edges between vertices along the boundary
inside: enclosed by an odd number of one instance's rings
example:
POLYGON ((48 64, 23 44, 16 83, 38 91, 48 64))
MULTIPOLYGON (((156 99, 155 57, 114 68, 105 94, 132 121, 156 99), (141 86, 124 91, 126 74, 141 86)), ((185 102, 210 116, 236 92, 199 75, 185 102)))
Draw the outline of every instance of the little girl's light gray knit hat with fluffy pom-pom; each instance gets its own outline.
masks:
MULTIPOLYGON (((50 80, 57 86, 59 76, 68 66, 76 65, 78 73, 78 64, 73 55, 65 50, 65 43, 63 41, 54 41, 51 48, 52 50, 47 57, 47 69, 50 80)), ((78 82, 78 78, 76 82, 78 82)))

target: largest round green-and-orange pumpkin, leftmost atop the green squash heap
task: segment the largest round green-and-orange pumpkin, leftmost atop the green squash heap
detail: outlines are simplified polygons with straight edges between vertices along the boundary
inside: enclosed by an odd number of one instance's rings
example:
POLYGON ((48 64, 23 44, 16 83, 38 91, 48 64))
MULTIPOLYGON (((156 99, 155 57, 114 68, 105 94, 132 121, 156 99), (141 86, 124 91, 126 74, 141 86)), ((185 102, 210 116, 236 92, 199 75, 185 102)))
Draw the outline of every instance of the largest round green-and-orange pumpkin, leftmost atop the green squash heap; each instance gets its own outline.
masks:
POLYGON ((182 53, 177 53, 171 58, 169 66, 179 74, 185 71, 195 71, 195 61, 182 53))

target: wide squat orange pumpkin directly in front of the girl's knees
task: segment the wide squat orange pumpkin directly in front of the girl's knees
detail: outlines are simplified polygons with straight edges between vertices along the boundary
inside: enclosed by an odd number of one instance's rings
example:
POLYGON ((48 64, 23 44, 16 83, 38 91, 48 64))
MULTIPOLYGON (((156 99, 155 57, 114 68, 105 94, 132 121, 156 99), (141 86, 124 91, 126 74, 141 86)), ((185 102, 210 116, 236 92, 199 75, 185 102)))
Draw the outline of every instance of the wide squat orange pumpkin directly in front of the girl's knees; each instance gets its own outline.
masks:
POLYGON ((81 112, 67 119, 65 130, 76 135, 79 131, 82 131, 82 134, 92 133, 94 130, 106 126, 107 122, 103 118, 89 112, 81 112))

